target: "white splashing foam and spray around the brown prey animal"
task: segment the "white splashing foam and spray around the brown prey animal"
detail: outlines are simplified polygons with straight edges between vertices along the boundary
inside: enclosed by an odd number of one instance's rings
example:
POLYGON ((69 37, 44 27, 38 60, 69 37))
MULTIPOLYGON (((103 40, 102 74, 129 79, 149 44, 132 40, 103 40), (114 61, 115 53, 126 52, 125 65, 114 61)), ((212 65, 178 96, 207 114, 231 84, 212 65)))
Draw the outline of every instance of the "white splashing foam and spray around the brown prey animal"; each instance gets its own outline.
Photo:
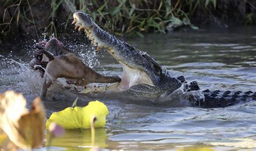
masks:
MULTIPOLYGON (((46 39, 44 38, 43 40, 38 41, 46 41, 46 39)), ((34 42, 36 44, 36 40, 34 40, 34 42)), ((10 51, 7 54, 0 55, 0 61, 2 63, 2 66, 0 67, 0 76, 3 76, 0 80, 2 85, 0 87, 0 92, 4 92, 8 89, 22 92, 23 90, 16 87, 22 84, 23 87, 29 88, 26 89, 26 94, 31 94, 33 96, 39 95, 43 79, 41 78, 38 71, 30 69, 28 65, 30 60, 33 58, 33 47, 35 46, 35 44, 32 46, 32 48, 30 47, 29 49, 22 49, 19 53, 10 51), (12 87, 4 87, 5 85, 10 85, 13 82, 14 85, 12 85, 12 87)), ((105 70, 100 64, 94 48, 88 48, 84 44, 68 45, 67 47, 70 49, 71 52, 77 54, 87 66, 89 66, 90 68, 101 68, 103 69, 102 74, 105 74, 105 70)), ((63 85, 63 87, 68 85, 63 78, 58 78, 58 83, 63 85)))

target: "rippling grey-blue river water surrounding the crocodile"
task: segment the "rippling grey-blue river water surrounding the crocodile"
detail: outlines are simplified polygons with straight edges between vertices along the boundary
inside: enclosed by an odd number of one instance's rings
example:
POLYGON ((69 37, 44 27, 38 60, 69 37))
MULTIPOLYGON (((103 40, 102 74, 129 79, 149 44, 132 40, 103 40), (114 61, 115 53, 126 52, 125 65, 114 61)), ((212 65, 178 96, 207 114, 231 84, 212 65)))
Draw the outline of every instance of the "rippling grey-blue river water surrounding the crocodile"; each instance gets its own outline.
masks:
MULTIPOLYGON (((187 81, 197 81, 201 89, 256 91, 255 30, 149 34, 127 40, 150 54, 172 76, 184 75, 187 81)), ((122 66, 105 51, 95 55, 91 46, 83 49, 84 44, 77 46, 65 41, 64 44, 99 73, 122 74, 122 66)), ((37 86, 31 90, 25 82, 28 81, 24 78, 26 68, 17 64, 21 62, 24 66, 29 62, 31 51, 1 52, 0 92, 10 89, 22 92, 29 102, 38 95, 37 86)), ((30 80, 40 83, 37 78, 30 80)), ((219 109, 147 106, 132 104, 129 100, 103 102, 110 114, 106 127, 96 131, 95 144, 101 148, 247 150, 256 147, 255 101, 219 109)), ((46 101, 45 105, 49 116, 71 103, 56 100, 46 101)), ((90 139, 90 130, 67 131, 63 138, 53 140, 55 148, 52 149, 89 150, 90 139)))

